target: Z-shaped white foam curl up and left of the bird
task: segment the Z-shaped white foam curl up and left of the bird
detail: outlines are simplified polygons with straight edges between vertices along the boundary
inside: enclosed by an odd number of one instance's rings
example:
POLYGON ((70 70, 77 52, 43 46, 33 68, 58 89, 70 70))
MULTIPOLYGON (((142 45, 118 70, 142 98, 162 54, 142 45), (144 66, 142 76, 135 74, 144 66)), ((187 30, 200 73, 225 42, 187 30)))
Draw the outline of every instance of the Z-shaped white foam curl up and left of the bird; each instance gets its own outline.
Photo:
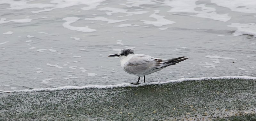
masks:
POLYGON ((89 28, 88 26, 85 26, 85 27, 75 27, 75 26, 71 26, 70 25, 70 24, 78 21, 79 19, 80 18, 78 18, 78 17, 66 17, 66 18, 63 18, 62 20, 67 21, 67 22, 63 23, 62 26, 64 28, 67 28, 67 29, 70 29, 70 30, 81 31, 81 32, 94 32, 94 31, 97 31, 95 29, 89 28))

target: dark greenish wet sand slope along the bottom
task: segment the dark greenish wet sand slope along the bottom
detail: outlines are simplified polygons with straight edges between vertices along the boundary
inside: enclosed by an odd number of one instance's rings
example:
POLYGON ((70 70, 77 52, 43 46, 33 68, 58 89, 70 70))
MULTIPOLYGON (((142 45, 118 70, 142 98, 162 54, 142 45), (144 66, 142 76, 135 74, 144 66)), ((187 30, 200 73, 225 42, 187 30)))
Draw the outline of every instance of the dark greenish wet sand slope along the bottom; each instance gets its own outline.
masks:
POLYGON ((0 94, 0 120, 256 120, 256 80, 0 94))

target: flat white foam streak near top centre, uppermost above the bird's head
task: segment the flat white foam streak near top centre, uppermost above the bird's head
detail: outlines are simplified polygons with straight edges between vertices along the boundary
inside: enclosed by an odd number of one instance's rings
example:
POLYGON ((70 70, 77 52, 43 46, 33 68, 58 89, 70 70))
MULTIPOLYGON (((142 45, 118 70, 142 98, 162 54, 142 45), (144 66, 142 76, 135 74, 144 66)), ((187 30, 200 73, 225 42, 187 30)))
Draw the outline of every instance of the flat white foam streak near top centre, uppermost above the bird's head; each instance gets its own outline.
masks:
POLYGON ((132 15, 137 15, 137 14, 144 14, 147 13, 148 11, 129 11, 127 9, 121 9, 121 8, 111 8, 111 7, 104 7, 104 8, 100 8, 98 10, 104 10, 104 11, 108 11, 106 12, 106 14, 108 16, 111 16, 113 13, 126 13, 126 16, 132 16, 132 15), (109 12, 111 11, 111 12, 109 12))

